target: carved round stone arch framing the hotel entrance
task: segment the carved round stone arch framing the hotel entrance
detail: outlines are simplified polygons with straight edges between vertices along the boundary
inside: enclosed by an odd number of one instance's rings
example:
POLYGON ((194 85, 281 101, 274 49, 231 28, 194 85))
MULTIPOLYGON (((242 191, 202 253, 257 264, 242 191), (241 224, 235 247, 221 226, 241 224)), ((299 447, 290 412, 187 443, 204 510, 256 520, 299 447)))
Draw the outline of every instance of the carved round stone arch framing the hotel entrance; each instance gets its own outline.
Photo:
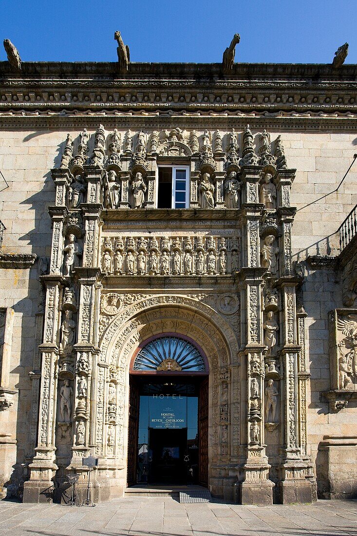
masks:
POLYGON ((165 333, 181 334, 195 340, 209 362, 210 463, 217 460, 221 454, 222 423, 226 428, 232 423, 230 414, 232 414, 233 393, 229 392, 230 366, 236 360, 239 349, 232 327, 217 312, 198 299, 166 295, 146 297, 133 303, 115 316, 103 333, 99 361, 101 378, 96 397, 96 440, 98 444, 102 439, 102 455, 107 456, 105 438, 108 435, 106 428, 108 422, 104 408, 108 406, 109 384, 115 384, 116 433, 112 458, 115 465, 123 469, 117 477, 122 480, 120 487, 125 487, 127 467, 130 361, 140 343, 165 333), (222 378, 225 378, 224 382, 222 378), (225 384, 224 388, 222 383, 225 384), (226 397, 224 401, 223 396, 226 397))

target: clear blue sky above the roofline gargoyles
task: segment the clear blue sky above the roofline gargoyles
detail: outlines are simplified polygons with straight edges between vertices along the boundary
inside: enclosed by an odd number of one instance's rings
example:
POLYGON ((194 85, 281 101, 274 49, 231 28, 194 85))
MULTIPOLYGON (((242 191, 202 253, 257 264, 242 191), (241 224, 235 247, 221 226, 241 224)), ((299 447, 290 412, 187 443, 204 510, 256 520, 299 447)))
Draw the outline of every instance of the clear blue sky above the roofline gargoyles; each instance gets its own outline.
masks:
MULTIPOLYGON (((349 43, 357 63, 356 0, 0 0, 0 38, 23 61, 116 61, 120 30, 137 62, 331 63, 349 43)), ((1 47, 0 61, 6 59, 1 47)))

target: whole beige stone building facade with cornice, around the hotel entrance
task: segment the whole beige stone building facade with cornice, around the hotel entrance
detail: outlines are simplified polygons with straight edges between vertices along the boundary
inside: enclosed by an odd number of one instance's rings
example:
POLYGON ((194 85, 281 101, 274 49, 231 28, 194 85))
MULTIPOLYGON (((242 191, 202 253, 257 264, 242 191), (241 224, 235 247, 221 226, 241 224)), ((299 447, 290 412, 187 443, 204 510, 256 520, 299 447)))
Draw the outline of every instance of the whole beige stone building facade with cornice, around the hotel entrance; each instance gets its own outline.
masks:
POLYGON ((3 496, 85 490, 91 453, 95 500, 123 495, 161 333, 209 362, 214 495, 357 493, 355 66, 227 65, 0 63, 3 496), (158 209, 160 165, 185 208, 158 209))

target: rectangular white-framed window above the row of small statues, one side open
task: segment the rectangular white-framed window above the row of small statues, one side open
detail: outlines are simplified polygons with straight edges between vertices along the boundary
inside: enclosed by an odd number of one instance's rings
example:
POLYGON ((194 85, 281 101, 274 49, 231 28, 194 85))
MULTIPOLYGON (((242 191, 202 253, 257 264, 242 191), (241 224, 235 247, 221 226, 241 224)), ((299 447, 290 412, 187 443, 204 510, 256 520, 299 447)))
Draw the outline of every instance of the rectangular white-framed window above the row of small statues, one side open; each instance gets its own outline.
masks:
POLYGON ((159 166, 158 209, 188 209, 188 166, 159 166))

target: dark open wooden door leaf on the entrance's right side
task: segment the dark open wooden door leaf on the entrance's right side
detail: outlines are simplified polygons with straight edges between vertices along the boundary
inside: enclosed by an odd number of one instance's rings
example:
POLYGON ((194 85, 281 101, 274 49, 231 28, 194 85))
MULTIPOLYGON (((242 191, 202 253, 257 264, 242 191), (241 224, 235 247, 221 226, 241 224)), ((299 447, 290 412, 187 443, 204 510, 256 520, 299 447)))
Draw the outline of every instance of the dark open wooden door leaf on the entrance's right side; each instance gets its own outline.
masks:
POLYGON ((198 430, 199 430, 199 472, 200 486, 208 486, 208 408, 209 378, 205 378, 199 391, 198 430))

